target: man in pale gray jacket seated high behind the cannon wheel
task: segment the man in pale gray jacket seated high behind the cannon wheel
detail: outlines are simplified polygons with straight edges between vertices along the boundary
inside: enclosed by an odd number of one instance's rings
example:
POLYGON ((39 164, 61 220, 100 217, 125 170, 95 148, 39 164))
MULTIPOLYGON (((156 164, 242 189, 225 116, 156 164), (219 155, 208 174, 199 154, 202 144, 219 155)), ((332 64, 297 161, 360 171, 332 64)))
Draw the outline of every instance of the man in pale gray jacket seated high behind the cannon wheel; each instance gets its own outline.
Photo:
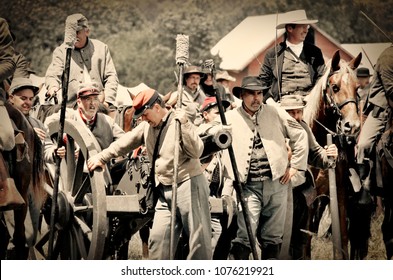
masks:
MULTIPOLYGON (((66 31, 76 24, 76 41, 71 54, 70 76, 68 84, 68 107, 76 106, 76 92, 80 84, 94 82, 104 92, 103 104, 109 109, 109 115, 114 117, 115 101, 119 83, 115 65, 109 48, 97 39, 90 39, 90 29, 87 18, 82 14, 67 17, 66 31)), ((66 32, 67 34, 67 32, 66 32)), ((61 78, 64 71, 67 44, 63 43, 53 51, 52 62, 45 74, 45 84, 49 95, 56 94, 61 89, 61 78)))

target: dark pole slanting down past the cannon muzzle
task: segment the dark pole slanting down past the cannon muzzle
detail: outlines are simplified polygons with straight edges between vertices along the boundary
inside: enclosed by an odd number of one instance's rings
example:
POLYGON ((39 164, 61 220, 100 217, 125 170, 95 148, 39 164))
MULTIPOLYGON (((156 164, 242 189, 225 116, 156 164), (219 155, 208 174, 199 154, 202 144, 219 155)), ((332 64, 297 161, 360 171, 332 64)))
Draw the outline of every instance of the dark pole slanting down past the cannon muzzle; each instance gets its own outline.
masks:
MULTIPOLYGON (((225 113, 224 113, 224 107, 223 107, 222 101, 221 101, 221 96, 220 96, 219 92, 217 91, 217 82, 215 79, 214 61, 212 59, 206 60, 204 67, 210 69, 210 73, 212 75, 212 80, 213 80, 213 88, 214 88, 214 92, 215 92, 215 95, 217 98, 217 105, 218 105, 218 110, 220 113, 221 123, 223 125, 227 125, 227 121, 226 121, 225 113)), ((257 260, 258 259, 258 252, 256 249, 256 241, 255 241, 254 235, 252 234, 252 229, 251 229, 250 211, 249 211, 248 205, 246 204, 246 201, 244 199, 243 185, 239 179, 236 158, 235 158, 235 153, 233 151, 232 143, 228 147, 228 152, 229 152, 229 157, 230 157, 230 160, 232 163, 232 169, 233 169, 233 175, 234 175, 234 188, 235 188, 237 196, 239 198, 240 205, 242 206, 242 209, 243 209, 244 222, 245 222, 246 228, 247 228, 248 239, 250 241, 252 256, 253 256, 254 260, 257 260)))

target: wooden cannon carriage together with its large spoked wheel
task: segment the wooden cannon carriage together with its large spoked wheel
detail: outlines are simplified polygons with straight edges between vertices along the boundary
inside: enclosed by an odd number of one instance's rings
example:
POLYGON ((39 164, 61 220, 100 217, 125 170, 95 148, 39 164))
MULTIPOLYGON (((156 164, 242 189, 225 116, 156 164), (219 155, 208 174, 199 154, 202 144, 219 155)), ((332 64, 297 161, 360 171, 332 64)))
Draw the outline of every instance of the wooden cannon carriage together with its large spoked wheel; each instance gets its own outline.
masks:
MULTIPOLYGON (((56 139, 59 123, 48 125, 56 139)), ((53 259, 127 259, 132 236, 153 219, 153 212, 142 213, 140 200, 145 195, 142 168, 146 158, 129 157, 120 180, 112 181, 108 168, 88 172, 86 159, 100 152, 91 131, 82 123, 66 119, 64 138, 67 152, 60 164, 59 192, 54 228, 42 226, 31 256, 48 258, 49 231, 54 231, 53 259), (118 181, 118 182, 117 182, 118 181)), ((44 222, 50 224, 53 194, 53 166, 46 170, 47 201, 42 208, 44 222)), ((227 203, 211 200, 211 212, 226 213, 227 203)), ((232 207, 232 206, 231 206, 232 207)), ((44 222, 42 224, 44 224, 44 222)))

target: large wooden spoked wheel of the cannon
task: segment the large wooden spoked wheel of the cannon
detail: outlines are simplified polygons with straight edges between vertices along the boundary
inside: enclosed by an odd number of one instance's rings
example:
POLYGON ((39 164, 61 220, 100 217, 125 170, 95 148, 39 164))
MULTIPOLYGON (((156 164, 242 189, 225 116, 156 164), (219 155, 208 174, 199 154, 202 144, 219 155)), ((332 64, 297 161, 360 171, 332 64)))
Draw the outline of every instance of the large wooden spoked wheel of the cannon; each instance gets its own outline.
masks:
MULTIPOLYGON (((59 123, 52 122, 48 127, 50 135, 56 137, 59 123)), ((49 229, 55 231, 52 256, 55 259, 101 259, 107 234, 105 185, 110 182, 110 176, 106 170, 87 172, 86 158, 101 149, 86 126, 66 119, 64 135, 67 155, 60 165, 55 226, 49 229), (78 156, 75 156, 74 151, 78 149, 78 156)), ((50 174, 50 168, 48 170, 50 174)), ((46 185, 48 207, 44 207, 43 213, 47 224, 50 224, 52 186, 46 185)), ((47 257, 48 239, 49 231, 37 241, 36 256, 39 252, 41 258, 47 257)))

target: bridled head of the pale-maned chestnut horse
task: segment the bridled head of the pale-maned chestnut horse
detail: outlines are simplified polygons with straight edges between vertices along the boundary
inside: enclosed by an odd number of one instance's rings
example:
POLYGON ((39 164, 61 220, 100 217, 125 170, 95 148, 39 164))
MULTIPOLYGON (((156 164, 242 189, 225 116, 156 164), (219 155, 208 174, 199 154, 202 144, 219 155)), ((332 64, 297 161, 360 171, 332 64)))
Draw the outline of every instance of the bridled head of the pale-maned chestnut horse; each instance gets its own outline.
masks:
MULTIPOLYGON (((327 77, 325 96, 330 106, 339 116, 337 132, 354 135, 360 128, 357 102, 357 78, 354 70, 359 66, 362 54, 346 62, 337 50, 331 59, 327 77)), ((329 66, 329 65, 328 65, 329 66)))

